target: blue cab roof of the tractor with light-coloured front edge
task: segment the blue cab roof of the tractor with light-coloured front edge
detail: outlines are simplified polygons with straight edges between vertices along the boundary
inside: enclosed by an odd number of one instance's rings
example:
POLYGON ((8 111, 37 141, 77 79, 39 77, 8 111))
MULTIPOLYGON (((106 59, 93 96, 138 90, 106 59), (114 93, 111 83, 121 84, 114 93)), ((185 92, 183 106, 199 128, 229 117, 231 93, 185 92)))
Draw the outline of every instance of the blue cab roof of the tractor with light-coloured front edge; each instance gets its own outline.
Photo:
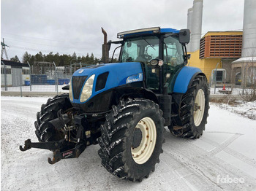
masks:
POLYGON ((145 35, 145 34, 167 34, 167 33, 178 34, 179 30, 176 30, 174 28, 160 28, 160 27, 141 28, 141 29, 136 29, 132 31, 124 31, 124 32, 118 33, 117 37, 119 39, 124 39, 127 37, 133 37, 133 36, 139 36, 139 35, 145 35))

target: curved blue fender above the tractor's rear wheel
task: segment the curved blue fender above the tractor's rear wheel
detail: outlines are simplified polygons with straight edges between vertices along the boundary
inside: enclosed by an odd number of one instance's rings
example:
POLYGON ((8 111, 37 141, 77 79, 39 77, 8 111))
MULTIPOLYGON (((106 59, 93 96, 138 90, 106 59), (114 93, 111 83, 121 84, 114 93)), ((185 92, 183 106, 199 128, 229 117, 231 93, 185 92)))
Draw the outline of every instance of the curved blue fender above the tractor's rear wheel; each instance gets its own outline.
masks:
POLYGON ((176 77, 173 87, 174 93, 186 93, 187 87, 194 74, 202 72, 200 69, 190 66, 184 66, 176 77))

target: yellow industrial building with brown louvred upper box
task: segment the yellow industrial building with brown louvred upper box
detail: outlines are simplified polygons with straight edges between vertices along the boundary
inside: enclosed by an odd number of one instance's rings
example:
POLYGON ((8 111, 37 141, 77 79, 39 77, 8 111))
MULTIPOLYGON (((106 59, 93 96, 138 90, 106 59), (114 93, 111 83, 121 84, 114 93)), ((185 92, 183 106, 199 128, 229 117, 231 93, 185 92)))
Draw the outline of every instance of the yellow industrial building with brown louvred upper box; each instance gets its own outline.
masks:
POLYGON ((217 81, 230 82, 231 63, 241 58, 242 36, 242 31, 209 31, 200 39, 200 49, 189 52, 189 66, 200 68, 208 81, 216 67, 223 69, 225 73, 219 73, 223 77, 218 77, 217 73, 217 81))

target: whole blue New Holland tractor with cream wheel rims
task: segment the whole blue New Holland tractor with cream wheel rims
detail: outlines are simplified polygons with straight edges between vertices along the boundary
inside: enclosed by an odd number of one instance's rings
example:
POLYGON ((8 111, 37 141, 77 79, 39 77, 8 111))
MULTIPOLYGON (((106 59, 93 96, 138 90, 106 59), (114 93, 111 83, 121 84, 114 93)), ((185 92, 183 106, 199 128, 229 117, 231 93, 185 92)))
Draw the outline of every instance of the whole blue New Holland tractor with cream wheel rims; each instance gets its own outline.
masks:
POLYGON ((28 139, 20 150, 49 149, 53 164, 99 144, 111 174, 141 181, 159 163, 165 126, 174 136, 202 136, 209 109, 206 75, 186 66, 188 29, 125 31, 116 42, 107 42, 102 32, 105 62, 75 71, 65 87, 69 94, 42 105, 34 122, 39 142, 28 139), (121 44, 118 63, 108 63, 111 44, 121 44))

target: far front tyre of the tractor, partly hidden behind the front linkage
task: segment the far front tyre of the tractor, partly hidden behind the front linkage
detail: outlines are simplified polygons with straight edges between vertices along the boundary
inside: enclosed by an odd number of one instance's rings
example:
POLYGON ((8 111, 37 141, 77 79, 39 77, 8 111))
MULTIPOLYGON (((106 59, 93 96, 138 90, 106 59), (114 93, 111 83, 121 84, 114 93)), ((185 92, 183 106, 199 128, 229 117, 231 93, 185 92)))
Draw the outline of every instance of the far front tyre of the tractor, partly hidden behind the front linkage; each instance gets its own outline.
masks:
POLYGON ((56 130, 50 124, 50 120, 56 119, 57 112, 62 109, 65 112, 71 108, 69 95, 56 95, 52 99, 48 99, 46 104, 42 104, 41 112, 37 112, 37 121, 34 122, 36 128, 35 133, 40 142, 59 141, 64 139, 64 133, 56 130))

